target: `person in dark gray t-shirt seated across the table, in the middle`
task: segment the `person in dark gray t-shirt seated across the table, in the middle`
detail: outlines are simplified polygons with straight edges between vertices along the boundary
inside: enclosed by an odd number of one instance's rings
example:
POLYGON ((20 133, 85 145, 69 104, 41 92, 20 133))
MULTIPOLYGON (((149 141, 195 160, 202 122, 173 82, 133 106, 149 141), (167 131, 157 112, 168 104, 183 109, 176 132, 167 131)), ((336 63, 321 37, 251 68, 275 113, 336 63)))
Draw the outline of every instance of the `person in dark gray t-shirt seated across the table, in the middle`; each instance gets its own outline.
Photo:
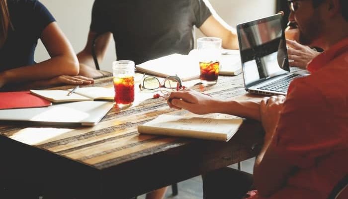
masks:
POLYGON ((80 74, 99 76, 92 57, 103 59, 111 35, 117 60, 135 64, 173 53, 188 54, 194 26, 209 37, 222 38, 222 47, 238 49, 235 30, 212 9, 208 0, 95 0, 85 49, 78 54, 80 74))

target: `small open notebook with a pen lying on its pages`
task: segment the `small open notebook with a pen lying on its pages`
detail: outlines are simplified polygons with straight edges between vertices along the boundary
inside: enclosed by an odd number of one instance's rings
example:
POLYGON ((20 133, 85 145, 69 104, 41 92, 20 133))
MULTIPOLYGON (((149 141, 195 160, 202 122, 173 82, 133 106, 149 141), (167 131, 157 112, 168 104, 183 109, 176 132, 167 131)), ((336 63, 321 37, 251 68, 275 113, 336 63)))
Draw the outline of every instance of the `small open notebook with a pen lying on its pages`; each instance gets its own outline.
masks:
POLYGON ((115 97, 113 88, 103 87, 84 87, 78 88, 75 93, 68 96, 69 90, 30 90, 30 93, 50 100, 52 102, 68 102, 68 101, 91 101, 103 100, 112 101, 115 97))

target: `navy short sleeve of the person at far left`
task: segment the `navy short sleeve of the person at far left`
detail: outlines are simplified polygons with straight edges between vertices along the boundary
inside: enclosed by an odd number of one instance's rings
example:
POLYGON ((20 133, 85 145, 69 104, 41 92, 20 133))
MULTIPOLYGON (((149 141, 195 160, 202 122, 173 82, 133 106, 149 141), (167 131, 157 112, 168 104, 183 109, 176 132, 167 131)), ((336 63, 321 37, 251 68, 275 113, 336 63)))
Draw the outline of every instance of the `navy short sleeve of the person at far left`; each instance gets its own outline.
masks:
POLYGON ((33 1, 33 21, 36 26, 37 37, 41 36, 42 31, 47 27, 48 24, 56 21, 52 16, 51 12, 43 5, 40 1, 33 1))

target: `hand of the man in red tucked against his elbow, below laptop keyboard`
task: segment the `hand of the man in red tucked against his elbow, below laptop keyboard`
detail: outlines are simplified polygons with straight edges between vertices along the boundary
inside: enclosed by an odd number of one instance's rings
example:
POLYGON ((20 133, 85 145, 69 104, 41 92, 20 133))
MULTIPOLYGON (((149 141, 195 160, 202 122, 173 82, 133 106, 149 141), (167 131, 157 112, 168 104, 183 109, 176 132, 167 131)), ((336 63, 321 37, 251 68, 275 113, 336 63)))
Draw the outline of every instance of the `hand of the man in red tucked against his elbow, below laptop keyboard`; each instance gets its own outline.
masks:
POLYGON ((273 136, 285 99, 284 96, 272 96, 261 100, 260 115, 262 126, 266 132, 265 139, 271 139, 273 136))

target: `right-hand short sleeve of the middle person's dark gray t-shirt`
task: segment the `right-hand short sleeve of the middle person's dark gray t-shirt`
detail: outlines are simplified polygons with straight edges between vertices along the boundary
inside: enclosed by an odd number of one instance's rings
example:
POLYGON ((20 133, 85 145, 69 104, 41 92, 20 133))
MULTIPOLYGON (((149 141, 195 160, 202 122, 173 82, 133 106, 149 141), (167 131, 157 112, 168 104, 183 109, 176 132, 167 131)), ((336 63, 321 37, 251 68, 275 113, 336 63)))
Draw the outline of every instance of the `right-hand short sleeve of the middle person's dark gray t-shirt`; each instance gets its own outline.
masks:
POLYGON ((199 28, 205 20, 211 15, 209 7, 205 4, 204 0, 192 0, 192 8, 195 16, 194 25, 199 28))

